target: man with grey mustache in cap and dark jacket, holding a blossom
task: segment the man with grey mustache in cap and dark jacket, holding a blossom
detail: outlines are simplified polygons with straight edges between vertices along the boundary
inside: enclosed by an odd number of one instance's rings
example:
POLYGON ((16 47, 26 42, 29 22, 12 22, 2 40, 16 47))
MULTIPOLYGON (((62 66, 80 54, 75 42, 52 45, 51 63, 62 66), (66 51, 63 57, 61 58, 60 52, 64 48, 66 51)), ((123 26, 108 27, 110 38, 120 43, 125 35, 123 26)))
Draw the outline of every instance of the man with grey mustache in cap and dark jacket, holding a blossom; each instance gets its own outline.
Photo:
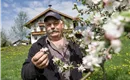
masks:
POLYGON ((72 63, 75 67, 82 62, 82 54, 75 42, 63 36, 64 23, 56 12, 48 12, 44 18, 46 35, 32 45, 28 58, 22 67, 23 80, 80 80, 82 73, 77 68, 58 72, 52 58, 56 57, 64 63, 72 63), (42 48, 47 47, 49 54, 42 48))

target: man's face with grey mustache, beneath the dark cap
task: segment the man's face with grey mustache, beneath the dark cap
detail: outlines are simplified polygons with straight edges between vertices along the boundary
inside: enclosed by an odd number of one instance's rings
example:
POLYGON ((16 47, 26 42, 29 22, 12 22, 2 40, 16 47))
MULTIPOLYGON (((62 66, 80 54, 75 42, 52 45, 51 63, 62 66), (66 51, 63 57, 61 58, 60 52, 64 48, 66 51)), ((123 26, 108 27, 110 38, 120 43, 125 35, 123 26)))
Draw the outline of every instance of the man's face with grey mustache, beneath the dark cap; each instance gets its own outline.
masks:
POLYGON ((45 28, 49 37, 61 37, 63 32, 63 22, 54 17, 48 17, 45 22, 45 28))

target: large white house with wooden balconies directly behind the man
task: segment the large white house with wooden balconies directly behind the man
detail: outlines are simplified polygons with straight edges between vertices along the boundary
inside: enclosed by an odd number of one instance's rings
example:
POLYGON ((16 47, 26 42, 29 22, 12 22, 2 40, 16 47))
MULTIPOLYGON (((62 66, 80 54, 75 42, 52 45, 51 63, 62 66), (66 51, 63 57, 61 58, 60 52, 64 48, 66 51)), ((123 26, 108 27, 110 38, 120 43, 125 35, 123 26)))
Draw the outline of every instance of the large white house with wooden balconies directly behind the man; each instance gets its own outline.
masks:
POLYGON ((30 36, 31 36, 31 43, 32 44, 34 42, 36 42, 41 36, 46 34, 43 20, 44 20, 45 14, 49 11, 54 11, 54 12, 57 12, 61 15, 61 18, 65 24, 65 26, 64 26, 65 33, 70 33, 74 29, 75 24, 74 24, 74 18, 72 16, 69 16, 67 14, 64 14, 62 12, 59 12, 59 11, 49 7, 48 9, 43 11, 41 14, 37 15, 36 17, 34 17, 33 19, 31 19, 30 21, 28 21, 25 24, 25 26, 27 28, 31 29, 30 36))

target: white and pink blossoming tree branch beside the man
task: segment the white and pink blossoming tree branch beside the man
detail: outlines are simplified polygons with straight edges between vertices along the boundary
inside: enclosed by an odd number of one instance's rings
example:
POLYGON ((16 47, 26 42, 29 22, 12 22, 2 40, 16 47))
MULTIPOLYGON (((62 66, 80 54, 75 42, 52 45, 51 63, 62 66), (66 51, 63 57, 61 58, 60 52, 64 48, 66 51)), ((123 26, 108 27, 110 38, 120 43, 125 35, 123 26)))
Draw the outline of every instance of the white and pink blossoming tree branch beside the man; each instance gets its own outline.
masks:
POLYGON ((120 37, 126 24, 130 24, 130 0, 78 0, 77 3, 74 3, 73 9, 79 13, 79 23, 67 36, 79 43, 84 53, 82 64, 73 67, 71 63, 65 64, 57 58, 53 61, 60 72, 71 68, 78 68, 81 72, 89 70, 82 80, 98 67, 103 69, 105 76, 104 63, 112 58, 112 54, 120 52, 120 37), (84 8, 79 8, 77 3, 84 8))

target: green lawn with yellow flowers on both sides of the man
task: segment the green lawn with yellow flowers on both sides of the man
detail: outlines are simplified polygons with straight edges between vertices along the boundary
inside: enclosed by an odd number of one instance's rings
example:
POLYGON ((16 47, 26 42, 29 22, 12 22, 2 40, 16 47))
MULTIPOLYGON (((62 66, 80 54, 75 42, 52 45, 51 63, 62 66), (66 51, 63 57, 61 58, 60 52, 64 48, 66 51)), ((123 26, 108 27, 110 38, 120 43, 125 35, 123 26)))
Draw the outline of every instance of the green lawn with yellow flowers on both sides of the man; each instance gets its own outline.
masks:
MULTIPOLYGON (((130 39, 122 38, 120 54, 114 54, 105 63, 107 80, 130 80, 130 39)), ((28 46, 0 48, 0 80, 21 80, 21 67, 27 57, 28 46)), ((87 80, 101 80, 102 71, 98 69, 87 80)))

